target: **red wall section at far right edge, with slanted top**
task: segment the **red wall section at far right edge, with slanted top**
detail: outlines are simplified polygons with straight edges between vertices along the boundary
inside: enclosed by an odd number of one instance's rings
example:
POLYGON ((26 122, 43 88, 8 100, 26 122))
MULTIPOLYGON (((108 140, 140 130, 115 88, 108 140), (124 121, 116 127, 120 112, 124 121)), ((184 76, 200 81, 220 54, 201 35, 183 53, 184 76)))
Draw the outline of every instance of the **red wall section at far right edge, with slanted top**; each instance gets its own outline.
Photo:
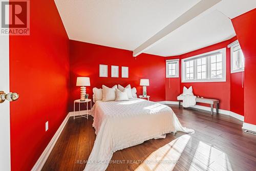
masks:
POLYGON ((232 19, 239 43, 245 56, 244 114, 245 122, 256 124, 256 9, 232 19))

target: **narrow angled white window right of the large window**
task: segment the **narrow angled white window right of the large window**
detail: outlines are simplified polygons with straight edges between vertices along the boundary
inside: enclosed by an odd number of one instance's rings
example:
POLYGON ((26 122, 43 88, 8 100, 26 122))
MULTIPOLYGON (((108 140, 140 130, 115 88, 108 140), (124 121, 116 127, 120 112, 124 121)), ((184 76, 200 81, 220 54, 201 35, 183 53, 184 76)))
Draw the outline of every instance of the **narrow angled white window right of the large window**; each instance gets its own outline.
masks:
POLYGON ((244 54, 238 40, 228 45, 228 48, 230 48, 231 51, 231 73, 244 71, 244 54))

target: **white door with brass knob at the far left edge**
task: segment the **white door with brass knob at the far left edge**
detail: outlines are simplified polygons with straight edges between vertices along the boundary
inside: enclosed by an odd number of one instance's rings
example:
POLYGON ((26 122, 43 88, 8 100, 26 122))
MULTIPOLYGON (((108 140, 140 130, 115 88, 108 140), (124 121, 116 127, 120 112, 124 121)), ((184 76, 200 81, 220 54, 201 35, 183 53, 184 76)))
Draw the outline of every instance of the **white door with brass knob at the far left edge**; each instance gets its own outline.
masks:
MULTIPOLYGON (((9 93, 9 35, 0 35, 0 91, 9 93)), ((10 101, 0 103, 0 170, 11 170, 10 101)))

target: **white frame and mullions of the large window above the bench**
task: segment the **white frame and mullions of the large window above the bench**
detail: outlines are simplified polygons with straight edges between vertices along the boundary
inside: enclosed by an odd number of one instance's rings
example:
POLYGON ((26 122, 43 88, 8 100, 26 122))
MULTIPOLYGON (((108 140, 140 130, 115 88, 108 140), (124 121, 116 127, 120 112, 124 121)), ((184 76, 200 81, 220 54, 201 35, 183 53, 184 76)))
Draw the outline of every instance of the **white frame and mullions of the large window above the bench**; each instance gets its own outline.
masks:
POLYGON ((225 82, 226 81, 226 48, 218 49, 215 51, 199 54, 196 56, 191 56, 188 58, 181 59, 181 82, 225 82), (196 65, 196 58, 207 57, 212 53, 222 53, 222 78, 210 78, 211 72, 211 61, 210 58, 206 59, 206 79, 197 79, 197 65, 196 65), (194 60, 194 76, 193 79, 186 80, 186 68, 185 68, 185 60, 194 60))

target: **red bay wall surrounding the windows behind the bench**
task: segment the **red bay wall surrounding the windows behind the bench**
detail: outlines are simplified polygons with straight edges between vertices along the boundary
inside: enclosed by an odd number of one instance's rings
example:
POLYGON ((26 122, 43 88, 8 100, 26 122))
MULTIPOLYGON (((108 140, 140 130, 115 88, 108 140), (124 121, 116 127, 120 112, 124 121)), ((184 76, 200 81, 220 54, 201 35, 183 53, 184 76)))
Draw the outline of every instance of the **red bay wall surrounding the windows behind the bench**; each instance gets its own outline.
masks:
MULTIPOLYGON (((205 98, 217 98, 220 100, 220 109, 232 111, 240 115, 244 115, 243 96, 244 90, 241 85, 241 73, 230 74, 230 48, 227 45, 236 40, 233 37, 229 40, 222 41, 218 44, 211 45, 193 52, 182 54, 180 56, 170 56, 166 59, 180 58, 180 77, 166 78, 166 100, 177 101, 177 96, 182 94, 183 87, 193 87, 195 95, 205 98), (181 59, 198 54, 226 48, 226 82, 181 82, 181 59), (170 88, 169 88, 170 87, 170 88)), ((199 105, 207 104, 198 103, 199 105)))

